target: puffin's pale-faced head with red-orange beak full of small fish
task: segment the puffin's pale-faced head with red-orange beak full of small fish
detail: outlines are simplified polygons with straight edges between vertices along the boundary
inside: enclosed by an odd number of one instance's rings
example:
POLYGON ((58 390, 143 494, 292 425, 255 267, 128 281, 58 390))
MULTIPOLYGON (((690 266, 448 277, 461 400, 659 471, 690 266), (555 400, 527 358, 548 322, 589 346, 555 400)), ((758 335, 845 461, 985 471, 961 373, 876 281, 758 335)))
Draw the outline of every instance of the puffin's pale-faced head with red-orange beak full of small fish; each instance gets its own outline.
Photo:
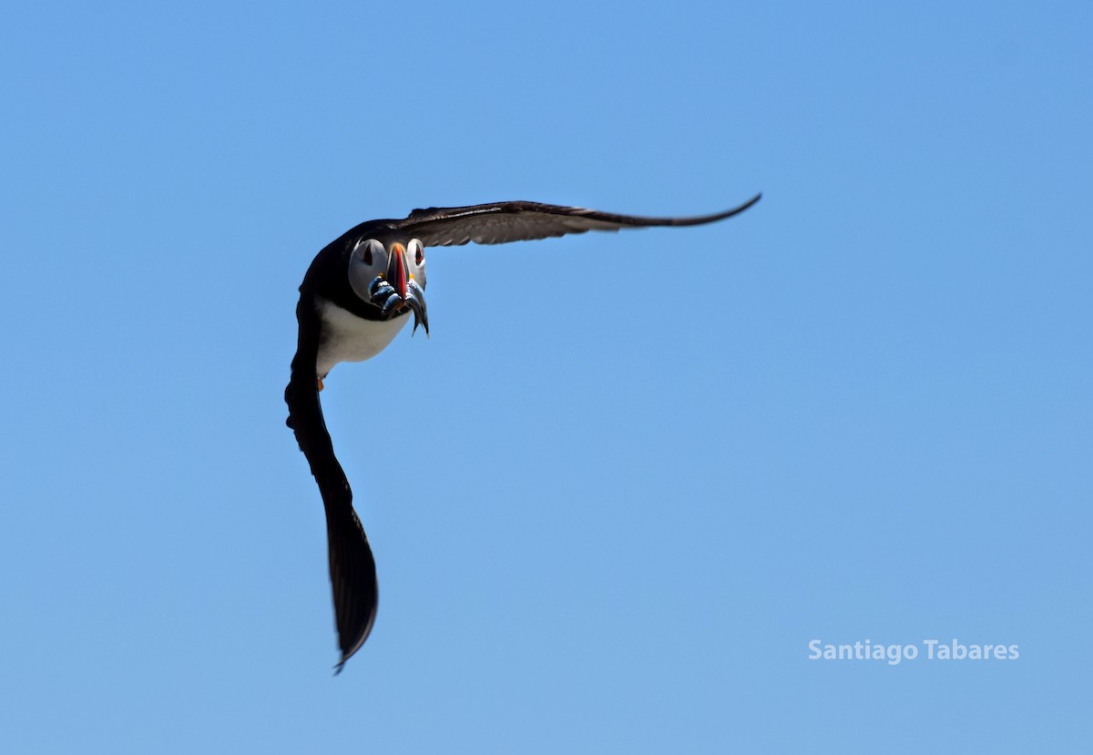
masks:
POLYGON ((349 284, 364 302, 379 307, 386 319, 408 309, 428 334, 425 311, 425 246, 396 231, 374 229, 353 247, 349 284))

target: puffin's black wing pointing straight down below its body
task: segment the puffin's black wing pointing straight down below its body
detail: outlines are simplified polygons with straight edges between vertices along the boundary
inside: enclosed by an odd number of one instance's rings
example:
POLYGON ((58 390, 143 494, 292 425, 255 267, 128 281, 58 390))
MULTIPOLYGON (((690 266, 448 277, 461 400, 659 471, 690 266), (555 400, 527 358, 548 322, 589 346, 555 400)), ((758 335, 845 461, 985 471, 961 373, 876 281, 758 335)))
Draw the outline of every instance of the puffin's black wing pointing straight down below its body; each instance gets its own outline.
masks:
POLYGON ((342 652, 336 670, 341 671, 345 661, 364 645, 376 621, 379 602, 376 562, 361 520, 353 510, 353 492, 334 457, 330 433, 322 420, 318 376, 315 373, 320 323, 309 296, 301 296, 296 319, 299 321, 299 340, 292 359, 292 377, 284 391, 289 404, 286 424, 296 434, 299 450, 307 457, 327 510, 330 585, 342 652))

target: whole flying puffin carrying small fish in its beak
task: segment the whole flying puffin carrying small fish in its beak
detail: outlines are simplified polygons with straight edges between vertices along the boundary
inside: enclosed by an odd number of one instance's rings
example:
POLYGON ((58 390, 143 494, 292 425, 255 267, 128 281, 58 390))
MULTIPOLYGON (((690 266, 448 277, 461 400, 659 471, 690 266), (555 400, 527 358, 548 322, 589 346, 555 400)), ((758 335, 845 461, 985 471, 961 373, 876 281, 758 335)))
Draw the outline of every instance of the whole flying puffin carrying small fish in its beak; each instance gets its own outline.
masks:
POLYGON ((299 335, 284 397, 287 425, 296 434, 327 512, 330 582, 341 660, 356 652, 376 620, 376 562, 353 494, 334 457, 319 391, 339 362, 375 356, 410 320, 428 333, 425 248, 506 244, 587 231, 703 225, 731 217, 757 202, 710 215, 639 217, 537 202, 496 202, 466 208, 414 210, 402 220, 362 223, 320 251, 299 286, 299 335))

